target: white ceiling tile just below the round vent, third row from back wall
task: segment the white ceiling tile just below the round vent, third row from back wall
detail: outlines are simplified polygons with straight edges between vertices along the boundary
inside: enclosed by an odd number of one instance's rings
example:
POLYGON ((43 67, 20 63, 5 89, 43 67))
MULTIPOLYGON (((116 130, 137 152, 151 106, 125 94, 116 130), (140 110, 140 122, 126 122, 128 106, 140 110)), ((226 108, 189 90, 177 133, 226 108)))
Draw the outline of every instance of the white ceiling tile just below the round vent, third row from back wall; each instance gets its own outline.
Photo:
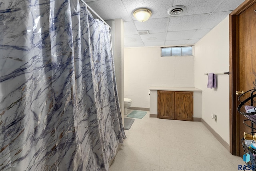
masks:
POLYGON ((168 32, 180 30, 196 30, 200 28, 202 23, 210 14, 198 14, 192 16, 177 16, 171 17, 168 27, 168 32))

